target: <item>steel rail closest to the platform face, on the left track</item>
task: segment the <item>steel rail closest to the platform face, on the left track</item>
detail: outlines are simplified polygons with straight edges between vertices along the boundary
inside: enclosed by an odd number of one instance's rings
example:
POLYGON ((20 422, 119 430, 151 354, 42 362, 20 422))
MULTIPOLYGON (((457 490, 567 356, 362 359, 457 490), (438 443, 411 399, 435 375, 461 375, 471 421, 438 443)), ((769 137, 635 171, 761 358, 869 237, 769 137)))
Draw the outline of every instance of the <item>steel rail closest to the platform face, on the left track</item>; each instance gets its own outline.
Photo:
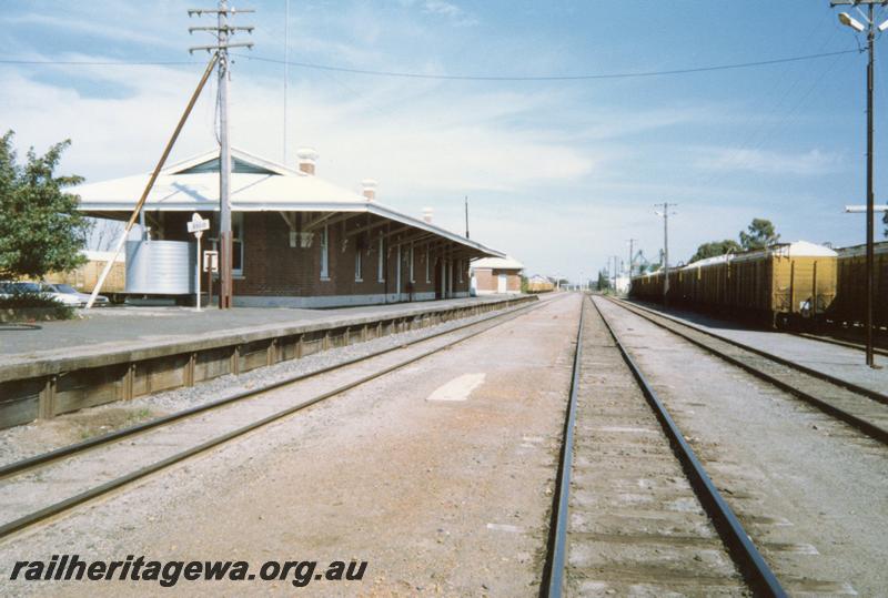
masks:
POLYGON ((428 341, 430 338, 436 338, 438 336, 443 336, 443 335, 450 334, 452 332, 461 331, 461 330, 464 330, 464 328, 467 328, 467 327, 471 327, 471 326, 475 326, 477 324, 483 324, 484 322, 488 322, 488 321, 494 320, 496 317, 503 317, 506 314, 515 313, 516 311, 519 311, 519 310, 526 310, 526 308, 535 306, 535 305, 542 305, 542 304, 534 302, 531 305, 525 305, 524 307, 517 307, 517 308, 514 308, 514 310, 509 310, 506 313, 493 314, 491 316, 487 316, 487 317, 484 317, 484 318, 481 318, 481 320, 476 320, 475 322, 470 322, 467 324, 462 324, 460 326, 455 326, 455 327, 448 328, 446 331, 436 332, 436 333, 433 333, 433 334, 431 334, 428 336, 423 336, 421 338, 414 338, 412 341, 407 341, 406 343, 400 343, 400 344, 397 344, 395 346, 392 346, 392 347, 389 347, 389 348, 384 348, 384 349, 381 349, 381 351, 376 351, 376 352, 370 353, 367 355, 353 357, 351 359, 346 359, 344 362, 341 362, 341 363, 337 363, 337 364, 333 364, 333 365, 327 365, 327 366, 321 367, 320 369, 314 369, 312 372, 306 372, 304 374, 295 374, 293 376, 289 376, 286 378, 280 379, 278 382, 268 383, 268 384, 264 384, 262 386, 258 386, 255 388, 251 388, 250 391, 244 391, 244 392, 241 392, 241 393, 233 394, 233 395, 228 396, 225 398, 220 398, 218 401, 212 401, 212 402, 209 402, 209 403, 204 403, 203 405, 198 405, 195 407, 191 407, 191 408, 188 408, 188 409, 182 409, 181 412, 175 412, 175 413, 172 413, 170 415, 164 415, 164 416, 151 419, 149 422, 143 422, 141 424, 135 424, 134 426, 129 426, 129 427, 125 427, 125 428, 122 428, 122 429, 119 429, 119 430, 110 432, 108 434, 102 434, 101 436, 95 436, 93 438, 89 438, 89 439, 82 440, 80 443, 74 443, 74 444, 71 444, 71 445, 67 445, 67 446, 57 448, 54 450, 49 450, 47 453, 41 453, 39 455, 34 455, 33 457, 28 457, 28 458, 24 458, 24 459, 12 462, 12 463, 9 463, 7 465, 0 466, 0 479, 2 479, 4 477, 8 477, 8 476, 10 476, 12 474, 17 474, 17 473, 20 473, 20 472, 23 472, 23 470, 27 470, 27 469, 32 469, 32 468, 37 467, 38 465, 43 465, 43 464, 53 462, 56 459, 60 459, 62 457, 67 457, 67 456, 70 456, 70 455, 82 453, 82 452, 84 452, 87 449, 94 448, 97 446, 101 446, 101 445, 107 444, 107 443, 112 443, 112 442, 115 442, 115 440, 120 440, 121 438, 125 438, 128 436, 133 436, 133 435, 140 434, 142 432, 149 430, 151 428, 154 428, 154 427, 158 427, 158 426, 162 426, 162 425, 165 425, 165 424, 170 424, 170 423, 176 422, 179 419, 184 419, 186 417, 191 417, 193 415, 196 415, 196 414, 200 414, 200 413, 203 413, 203 412, 212 411, 212 409, 222 407, 224 405, 228 405, 230 403, 235 403, 238 401, 243 401, 245 398, 250 398, 250 397, 255 396, 258 394, 261 394, 261 393, 264 393, 264 392, 268 392, 268 391, 272 391, 274 388, 279 388, 281 386, 284 386, 284 385, 287 385, 287 384, 292 384, 294 382, 300 382, 300 381, 307 379, 307 378, 311 378, 311 377, 314 377, 314 376, 319 376, 321 374, 326 374, 327 372, 333 372, 335 369, 340 369, 342 367, 347 367, 350 365, 354 365, 354 364, 363 362, 365 359, 377 357, 380 355, 385 355, 386 353, 392 353, 393 351, 398 351, 398 349, 402 349, 404 347, 407 347, 407 346, 411 346, 411 345, 415 345, 415 344, 422 343, 424 341, 428 341))

